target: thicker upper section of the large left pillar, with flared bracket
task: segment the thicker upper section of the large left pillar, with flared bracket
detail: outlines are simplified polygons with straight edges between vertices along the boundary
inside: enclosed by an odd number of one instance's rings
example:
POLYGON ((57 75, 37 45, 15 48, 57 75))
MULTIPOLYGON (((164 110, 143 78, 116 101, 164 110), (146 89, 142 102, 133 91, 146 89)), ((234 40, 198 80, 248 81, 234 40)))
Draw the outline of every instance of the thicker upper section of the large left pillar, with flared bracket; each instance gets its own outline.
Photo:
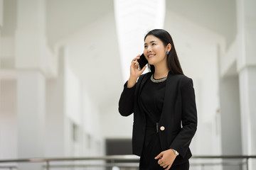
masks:
POLYGON ((45 77, 54 77, 57 58, 47 44, 45 6, 46 0, 17 1, 15 66, 41 70, 45 77))

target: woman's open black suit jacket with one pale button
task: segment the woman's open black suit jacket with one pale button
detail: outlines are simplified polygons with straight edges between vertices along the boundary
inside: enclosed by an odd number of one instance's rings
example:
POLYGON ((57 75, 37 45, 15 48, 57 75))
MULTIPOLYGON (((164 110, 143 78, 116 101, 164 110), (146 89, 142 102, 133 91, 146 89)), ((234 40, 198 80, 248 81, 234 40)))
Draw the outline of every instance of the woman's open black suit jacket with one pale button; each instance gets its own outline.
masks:
MULTIPOLYGON (((144 145, 146 118, 139 106, 138 97, 151 72, 142 74, 137 84, 127 88, 124 84, 119 99, 119 113, 128 116, 134 113, 132 152, 141 156, 144 145)), ((175 149, 179 155, 174 164, 182 164, 191 156, 189 145, 197 128, 197 112, 192 79, 182 74, 169 72, 166 80, 164 106, 159 121, 161 149, 175 149), (164 127, 164 130, 160 129, 164 127)))

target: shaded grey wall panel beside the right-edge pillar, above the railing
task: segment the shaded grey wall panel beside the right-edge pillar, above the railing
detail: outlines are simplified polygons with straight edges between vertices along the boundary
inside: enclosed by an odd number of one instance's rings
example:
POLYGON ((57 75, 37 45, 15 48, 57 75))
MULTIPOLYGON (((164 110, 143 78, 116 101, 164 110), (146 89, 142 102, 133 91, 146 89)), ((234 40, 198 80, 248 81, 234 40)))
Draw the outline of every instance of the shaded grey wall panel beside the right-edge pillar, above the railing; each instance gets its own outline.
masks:
POLYGON ((221 140, 223 154, 242 154, 239 79, 220 79, 221 140))

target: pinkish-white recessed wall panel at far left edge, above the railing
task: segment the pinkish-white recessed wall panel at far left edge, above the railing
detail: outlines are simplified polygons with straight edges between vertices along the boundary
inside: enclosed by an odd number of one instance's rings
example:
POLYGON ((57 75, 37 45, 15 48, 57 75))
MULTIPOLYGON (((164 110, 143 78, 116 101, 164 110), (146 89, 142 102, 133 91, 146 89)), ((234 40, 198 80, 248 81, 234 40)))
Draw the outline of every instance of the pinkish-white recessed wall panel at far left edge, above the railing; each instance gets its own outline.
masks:
POLYGON ((16 80, 1 79, 0 159, 17 158, 16 80))

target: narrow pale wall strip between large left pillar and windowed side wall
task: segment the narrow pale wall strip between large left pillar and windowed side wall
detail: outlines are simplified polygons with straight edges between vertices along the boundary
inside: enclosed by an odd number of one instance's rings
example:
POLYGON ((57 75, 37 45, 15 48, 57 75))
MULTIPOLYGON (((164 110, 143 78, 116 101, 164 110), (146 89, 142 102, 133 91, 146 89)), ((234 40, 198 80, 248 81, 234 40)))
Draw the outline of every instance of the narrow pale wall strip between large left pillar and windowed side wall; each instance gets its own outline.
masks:
POLYGON ((46 157, 65 156, 65 48, 58 50, 58 77, 46 80, 46 157), (50 140, 48 140, 50 139, 50 140))

